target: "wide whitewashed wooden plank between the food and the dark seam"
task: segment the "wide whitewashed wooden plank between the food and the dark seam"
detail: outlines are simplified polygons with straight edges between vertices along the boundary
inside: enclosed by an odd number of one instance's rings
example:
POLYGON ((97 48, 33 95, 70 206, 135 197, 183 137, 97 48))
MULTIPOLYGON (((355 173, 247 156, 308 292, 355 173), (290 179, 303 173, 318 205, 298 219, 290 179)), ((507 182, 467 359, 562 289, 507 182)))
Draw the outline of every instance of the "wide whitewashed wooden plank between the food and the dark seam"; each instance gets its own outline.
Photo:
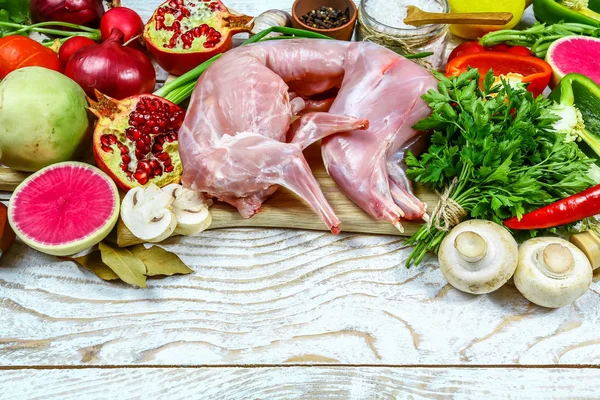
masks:
POLYGON ((512 284, 405 269, 394 236, 228 229, 165 242, 195 273, 103 282, 22 244, 0 259, 0 365, 598 364, 600 286, 548 310, 512 284))

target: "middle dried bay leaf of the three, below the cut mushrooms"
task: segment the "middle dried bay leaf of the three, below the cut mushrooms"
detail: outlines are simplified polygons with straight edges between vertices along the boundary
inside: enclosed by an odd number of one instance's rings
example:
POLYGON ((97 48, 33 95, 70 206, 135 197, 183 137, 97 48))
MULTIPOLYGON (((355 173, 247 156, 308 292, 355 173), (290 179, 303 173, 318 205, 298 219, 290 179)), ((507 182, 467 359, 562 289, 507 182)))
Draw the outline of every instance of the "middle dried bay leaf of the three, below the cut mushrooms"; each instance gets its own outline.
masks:
POLYGON ((98 245, 102 261, 112 269, 123 282, 146 287, 146 267, 127 249, 113 248, 102 242, 98 245))

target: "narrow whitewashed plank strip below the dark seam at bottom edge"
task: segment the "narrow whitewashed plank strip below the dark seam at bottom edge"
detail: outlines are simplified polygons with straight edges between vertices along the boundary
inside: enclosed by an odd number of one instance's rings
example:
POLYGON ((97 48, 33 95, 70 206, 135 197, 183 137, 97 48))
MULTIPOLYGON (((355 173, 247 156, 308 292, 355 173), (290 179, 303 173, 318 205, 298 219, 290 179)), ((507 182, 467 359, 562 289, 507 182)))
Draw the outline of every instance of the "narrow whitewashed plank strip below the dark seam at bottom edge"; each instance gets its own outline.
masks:
POLYGON ((0 400, 573 400, 597 399, 598 379, 597 369, 26 369, 0 371, 0 400))

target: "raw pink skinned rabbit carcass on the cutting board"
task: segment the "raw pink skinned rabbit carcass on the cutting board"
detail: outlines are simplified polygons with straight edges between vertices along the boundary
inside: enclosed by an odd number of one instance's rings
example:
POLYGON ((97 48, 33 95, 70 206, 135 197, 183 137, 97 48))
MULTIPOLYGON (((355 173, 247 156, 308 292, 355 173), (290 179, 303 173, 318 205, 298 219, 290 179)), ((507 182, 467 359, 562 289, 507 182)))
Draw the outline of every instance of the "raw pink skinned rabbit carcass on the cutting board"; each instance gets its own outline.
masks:
POLYGON ((340 221, 302 154, 329 137, 326 165, 352 200, 392 223, 422 216, 394 154, 428 112, 420 96, 434 84, 421 67, 371 43, 297 39, 234 49, 192 96, 179 134, 183 183, 246 218, 284 186, 337 233, 340 221), (318 94, 329 97, 312 98, 318 94))

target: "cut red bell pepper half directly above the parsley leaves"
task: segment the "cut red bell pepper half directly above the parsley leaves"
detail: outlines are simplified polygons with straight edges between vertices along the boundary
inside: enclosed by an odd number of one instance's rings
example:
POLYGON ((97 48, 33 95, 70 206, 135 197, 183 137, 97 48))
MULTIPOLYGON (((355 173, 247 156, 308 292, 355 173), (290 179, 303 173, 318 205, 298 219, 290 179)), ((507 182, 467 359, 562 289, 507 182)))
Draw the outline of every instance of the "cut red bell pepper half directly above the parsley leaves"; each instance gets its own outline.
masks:
POLYGON ((446 66, 446 76, 458 76, 466 72, 469 67, 478 68, 482 78, 490 69, 494 71, 495 76, 520 74, 523 76, 521 81, 529 83, 527 89, 534 96, 542 94, 552 77, 552 67, 542 59, 494 51, 455 58, 446 66))

